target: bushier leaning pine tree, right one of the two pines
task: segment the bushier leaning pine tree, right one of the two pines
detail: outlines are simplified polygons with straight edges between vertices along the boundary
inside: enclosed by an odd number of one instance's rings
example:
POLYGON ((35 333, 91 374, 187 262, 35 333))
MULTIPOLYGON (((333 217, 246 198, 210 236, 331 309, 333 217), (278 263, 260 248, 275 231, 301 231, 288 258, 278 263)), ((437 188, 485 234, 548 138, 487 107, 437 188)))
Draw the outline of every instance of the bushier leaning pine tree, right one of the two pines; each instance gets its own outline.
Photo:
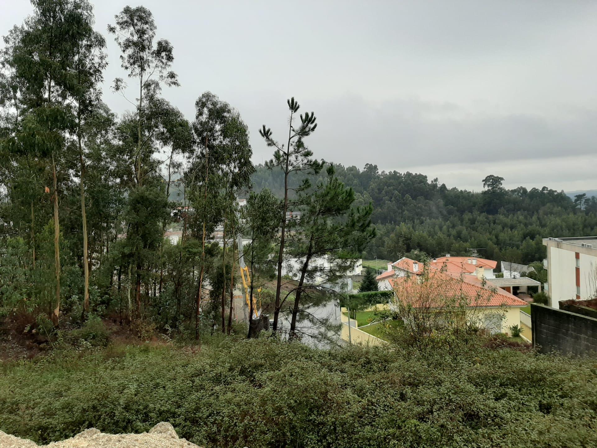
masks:
POLYGON ((288 255, 300 260, 298 284, 286 296, 294 292, 290 339, 297 337, 303 293, 316 286, 317 278, 337 281, 345 275, 375 236, 373 205, 354 207, 355 192, 335 176, 334 165, 328 166, 327 177, 315 188, 299 192, 297 202, 300 221, 291 223, 288 241, 288 255))

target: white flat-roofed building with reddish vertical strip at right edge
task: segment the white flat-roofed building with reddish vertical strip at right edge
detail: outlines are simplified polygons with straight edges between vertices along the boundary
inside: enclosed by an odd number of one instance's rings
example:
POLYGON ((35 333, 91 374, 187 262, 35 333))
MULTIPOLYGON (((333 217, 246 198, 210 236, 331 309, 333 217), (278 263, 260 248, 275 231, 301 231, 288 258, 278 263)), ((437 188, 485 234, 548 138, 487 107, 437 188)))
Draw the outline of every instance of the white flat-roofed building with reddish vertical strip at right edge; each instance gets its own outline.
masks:
POLYGON ((543 238, 547 247, 549 306, 597 293, 597 237, 543 238))

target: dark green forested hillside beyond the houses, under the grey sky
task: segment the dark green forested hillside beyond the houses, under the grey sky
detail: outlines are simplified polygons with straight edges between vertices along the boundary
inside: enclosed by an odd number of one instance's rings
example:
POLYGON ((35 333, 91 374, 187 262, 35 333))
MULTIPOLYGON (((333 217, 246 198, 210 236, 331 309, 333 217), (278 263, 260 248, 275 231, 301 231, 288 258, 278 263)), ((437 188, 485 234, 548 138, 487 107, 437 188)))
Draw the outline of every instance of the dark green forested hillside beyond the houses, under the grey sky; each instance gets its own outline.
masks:
MULTIPOLYGON (((263 165, 256 168, 254 188, 281 195, 281 173, 263 165)), ((545 257, 542 238, 597 232, 595 197, 574 201, 546 186, 507 190, 498 176, 479 179, 483 191, 470 192, 448 188, 424 174, 379 171, 372 164, 362 170, 341 164, 336 168, 360 204, 373 202, 378 235, 364 258, 416 257, 417 250, 432 256, 467 255, 467 248, 482 248, 479 254, 489 259, 530 263, 545 257)))

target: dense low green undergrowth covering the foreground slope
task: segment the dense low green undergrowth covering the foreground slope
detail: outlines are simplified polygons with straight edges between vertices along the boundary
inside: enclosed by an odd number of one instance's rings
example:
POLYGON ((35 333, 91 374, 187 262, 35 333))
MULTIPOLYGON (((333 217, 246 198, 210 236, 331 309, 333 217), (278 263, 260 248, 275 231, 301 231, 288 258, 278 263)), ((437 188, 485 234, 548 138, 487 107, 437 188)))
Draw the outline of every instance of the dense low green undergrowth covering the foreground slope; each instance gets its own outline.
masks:
POLYGON ((597 361, 511 349, 113 343, 0 377, 0 429, 38 443, 168 421, 208 447, 589 447, 596 417, 597 361))

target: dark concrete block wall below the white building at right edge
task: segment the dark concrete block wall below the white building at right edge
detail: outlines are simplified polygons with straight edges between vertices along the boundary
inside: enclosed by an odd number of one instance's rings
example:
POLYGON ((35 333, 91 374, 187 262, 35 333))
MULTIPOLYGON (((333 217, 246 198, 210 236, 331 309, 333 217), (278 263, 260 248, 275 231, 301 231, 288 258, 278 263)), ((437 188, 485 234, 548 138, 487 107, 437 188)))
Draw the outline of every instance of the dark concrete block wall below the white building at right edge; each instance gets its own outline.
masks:
POLYGON ((541 353, 597 353, 597 319, 545 305, 531 304, 533 346, 541 353))

